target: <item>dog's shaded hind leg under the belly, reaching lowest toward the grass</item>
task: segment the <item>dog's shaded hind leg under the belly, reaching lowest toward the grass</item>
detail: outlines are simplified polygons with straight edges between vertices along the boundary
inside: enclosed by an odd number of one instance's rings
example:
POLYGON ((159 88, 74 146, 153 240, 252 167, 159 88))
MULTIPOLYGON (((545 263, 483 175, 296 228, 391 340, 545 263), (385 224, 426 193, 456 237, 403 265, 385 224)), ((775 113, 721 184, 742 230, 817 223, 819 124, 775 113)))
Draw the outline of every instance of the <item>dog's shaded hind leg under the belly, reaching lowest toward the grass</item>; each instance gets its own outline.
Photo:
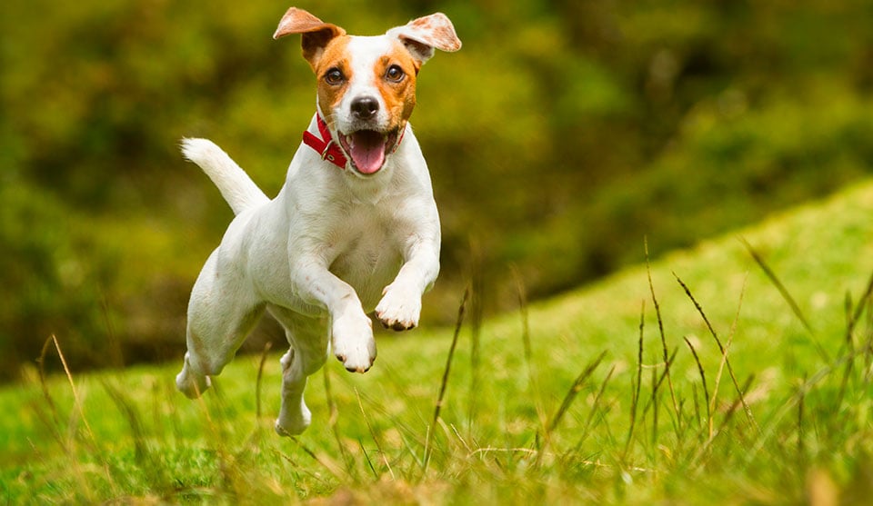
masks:
POLYGON ((312 419, 303 391, 306 378, 321 369, 327 359, 327 320, 309 318, 276 307, 270 307, 270 313, 285 327, 290 344, 280 361, 282 407, 276 419, 276 432, 290 436, 306 431, 312 419))

